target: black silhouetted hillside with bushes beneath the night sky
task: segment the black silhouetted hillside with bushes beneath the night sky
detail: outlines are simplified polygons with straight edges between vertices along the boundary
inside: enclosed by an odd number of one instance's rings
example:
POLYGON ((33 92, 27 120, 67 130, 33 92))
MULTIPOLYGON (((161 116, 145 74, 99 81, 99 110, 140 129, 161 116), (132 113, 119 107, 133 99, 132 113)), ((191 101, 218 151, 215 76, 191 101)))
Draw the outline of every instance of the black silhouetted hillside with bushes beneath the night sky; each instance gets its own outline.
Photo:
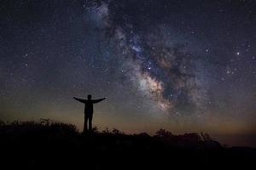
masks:
POLYGON ((255 167, 256 151, 224 147, 207 133, 175 135, 160 129, 125 134, 106 128, 79 133, 72 124, 0 121, 3 169, 172 169, 255 167))

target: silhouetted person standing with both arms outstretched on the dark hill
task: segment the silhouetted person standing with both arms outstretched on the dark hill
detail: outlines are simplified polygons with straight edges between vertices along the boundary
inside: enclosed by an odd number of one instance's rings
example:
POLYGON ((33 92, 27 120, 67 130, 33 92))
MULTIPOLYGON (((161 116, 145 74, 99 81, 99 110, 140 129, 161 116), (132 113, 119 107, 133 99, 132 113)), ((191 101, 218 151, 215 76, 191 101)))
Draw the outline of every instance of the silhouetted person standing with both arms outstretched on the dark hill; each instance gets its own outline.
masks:
POLYGON ((106 98, 102 98, 102 99, 91 99, 91 95, 89 94, 87 96, 88 99, 79 99, 79 98, 73 98, 78 100, 79 102, 82 102, 85 104, 84 107, 84 132, 87 131, 87 122, 89 121, 89 130, 91 130, 92 127, 92 115, 93 115, 93 104, 96 104, 98 102, 101 102, 102 100, 106 99, 106 98))

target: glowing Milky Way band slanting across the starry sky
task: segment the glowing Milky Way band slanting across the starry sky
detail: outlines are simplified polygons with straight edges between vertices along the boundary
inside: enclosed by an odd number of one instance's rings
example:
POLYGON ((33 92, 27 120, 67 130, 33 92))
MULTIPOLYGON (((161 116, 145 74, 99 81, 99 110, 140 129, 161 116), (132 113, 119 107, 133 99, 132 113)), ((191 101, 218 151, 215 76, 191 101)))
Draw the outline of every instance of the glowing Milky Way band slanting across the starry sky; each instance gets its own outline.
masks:
MULTIPOLYGON (((166 4, 158 8, 165 8, 166 4)), ((89 11, 96 23, 102 23, 99 26, 117 46, 119 57, 132 63, 128 77, 143 94, 154 99, 160 109, 169 114, 191 114, 194 111, 199 114, 207 101, 201 80, 197 77, 200 68, 196 67, 201 65, 201 59, 185 51, 184 44, 174 43, 172 35, 165 37, 164 30, 172 26, 172 23, 162 24, 168 11, 158 16, 159 19, 153 18, 154 26, 143 20, 144 13, 154 15, 146 5, 146 2, 136 7, 125 2, 102 1, 92 3, 89 11), (111 5, 115 8, 109 8, 111 5), (143 11, 124 14, 123 10, 131 6, 135 11, 140 8, 143 11)))

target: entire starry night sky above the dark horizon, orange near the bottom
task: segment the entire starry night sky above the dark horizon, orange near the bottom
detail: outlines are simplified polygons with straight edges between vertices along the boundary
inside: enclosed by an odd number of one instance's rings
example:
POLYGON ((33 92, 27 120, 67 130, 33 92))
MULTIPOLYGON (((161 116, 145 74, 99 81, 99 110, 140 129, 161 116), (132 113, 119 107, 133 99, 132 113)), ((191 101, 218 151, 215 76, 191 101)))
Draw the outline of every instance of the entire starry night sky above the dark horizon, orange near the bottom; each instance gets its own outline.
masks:
POLYGON ((256 1, 1 0, 0 119, 256 145, 256 1))

